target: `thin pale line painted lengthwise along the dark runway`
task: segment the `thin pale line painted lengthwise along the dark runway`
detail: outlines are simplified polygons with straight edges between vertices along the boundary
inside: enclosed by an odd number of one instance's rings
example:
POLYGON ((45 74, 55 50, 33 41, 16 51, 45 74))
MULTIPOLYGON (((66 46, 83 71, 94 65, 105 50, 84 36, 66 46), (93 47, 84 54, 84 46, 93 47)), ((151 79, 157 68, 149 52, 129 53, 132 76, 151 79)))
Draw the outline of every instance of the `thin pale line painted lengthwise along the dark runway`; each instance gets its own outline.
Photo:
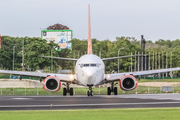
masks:
MULTIPOLYGON (((52 105, 53 107, 78 107, 78 106, 109 106, 109 105, 153 105, 153 104, 177 104, 180 102, 144 102, 144 103, 100 103, 100 104, 65 104, 65 105, 52 105)), ((51 105, 5 105, 0 106, 3 108, 13 107, 51 107, 51 105)))

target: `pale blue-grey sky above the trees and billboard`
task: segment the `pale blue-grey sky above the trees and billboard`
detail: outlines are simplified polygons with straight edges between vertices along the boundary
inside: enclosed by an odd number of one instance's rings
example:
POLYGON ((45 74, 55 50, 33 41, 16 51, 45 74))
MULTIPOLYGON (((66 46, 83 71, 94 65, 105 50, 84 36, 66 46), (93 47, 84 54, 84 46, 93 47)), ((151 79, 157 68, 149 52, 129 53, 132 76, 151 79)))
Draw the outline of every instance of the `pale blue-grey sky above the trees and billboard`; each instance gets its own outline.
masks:
POLYGON ((0 34, 40 37, 59 23, 87 39, 88 4, 92 38, 180 39, 180 0, 0 0, 0 34))

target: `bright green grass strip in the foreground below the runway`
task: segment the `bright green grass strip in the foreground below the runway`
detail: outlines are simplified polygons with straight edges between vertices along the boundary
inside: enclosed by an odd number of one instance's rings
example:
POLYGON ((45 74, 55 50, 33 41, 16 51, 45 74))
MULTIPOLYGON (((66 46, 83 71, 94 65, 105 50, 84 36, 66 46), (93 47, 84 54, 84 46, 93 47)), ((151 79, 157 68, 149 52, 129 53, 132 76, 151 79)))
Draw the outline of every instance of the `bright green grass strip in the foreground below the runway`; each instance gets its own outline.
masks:
POLYGON ((1 111, 1 120, 179 120, 180 108, 1 111))

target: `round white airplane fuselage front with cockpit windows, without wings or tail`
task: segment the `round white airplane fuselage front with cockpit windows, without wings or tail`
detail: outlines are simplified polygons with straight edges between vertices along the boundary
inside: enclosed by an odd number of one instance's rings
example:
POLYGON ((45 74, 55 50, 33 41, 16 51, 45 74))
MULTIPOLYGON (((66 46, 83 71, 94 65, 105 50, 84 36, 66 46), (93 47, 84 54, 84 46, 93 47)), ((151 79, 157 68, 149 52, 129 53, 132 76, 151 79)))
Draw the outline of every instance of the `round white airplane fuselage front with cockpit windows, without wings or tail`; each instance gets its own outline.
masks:
POLYGON ((105 77, 104 62, 96 55, 83 55, 76 62, 75 74, 82 85, 97 85, 105 77))

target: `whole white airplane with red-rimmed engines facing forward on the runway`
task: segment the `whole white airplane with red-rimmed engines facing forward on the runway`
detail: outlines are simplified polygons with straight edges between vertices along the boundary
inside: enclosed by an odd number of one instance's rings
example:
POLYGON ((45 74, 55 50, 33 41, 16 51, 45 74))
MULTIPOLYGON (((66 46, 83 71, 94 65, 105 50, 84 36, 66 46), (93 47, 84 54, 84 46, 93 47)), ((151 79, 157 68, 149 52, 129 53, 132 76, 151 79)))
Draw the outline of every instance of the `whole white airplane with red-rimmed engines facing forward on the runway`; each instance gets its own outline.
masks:
POLYGON ((88 14, 89 14, 88 15, 88 48, 86 55, 81 56, 79 59, 41 56, 45 58, 76 61, 75 74, 35 73, 35 72, 9 71, 9 70, 0 70, 0 73, 19 75, 20 80, 22 79, 22 76, 38 77, 40 78, 40 81, 44 79, 43 88, 51 92, 59 91, 61 88, 61 82, 64 82, 66 83, 65 87, 63 88, 64 96, 66 96, 67 93, 73 95, 73 88, 69 87, 70 84, 87 86, 89 87, 89 91, 87 91, 87 96, 93 96, 94 94, 92 87, 96 85, 110 83, 111 87, 107 87, 107 95, 111 95, 111 93, 117 95, 118 94, 117 87, 115 87, 116 85, 115 82, 117 81, 119 82, 119 86, 122 90, 130 91, 130 90, 134 90, 137 87, 136 77, 140 78, 141 76, 144 75, 153 75, 153 74, 167 73, 170 71, 180 70, 180 67, 177 67, 177 68, 158 69, 158 70, 105 74, 104 61, 132 57, 135 55, 111 57, 111 58, 103 58, 103 59, 94 55, 92 53, 92 42, 91 42, 90 5, 89 5, 88 14))

